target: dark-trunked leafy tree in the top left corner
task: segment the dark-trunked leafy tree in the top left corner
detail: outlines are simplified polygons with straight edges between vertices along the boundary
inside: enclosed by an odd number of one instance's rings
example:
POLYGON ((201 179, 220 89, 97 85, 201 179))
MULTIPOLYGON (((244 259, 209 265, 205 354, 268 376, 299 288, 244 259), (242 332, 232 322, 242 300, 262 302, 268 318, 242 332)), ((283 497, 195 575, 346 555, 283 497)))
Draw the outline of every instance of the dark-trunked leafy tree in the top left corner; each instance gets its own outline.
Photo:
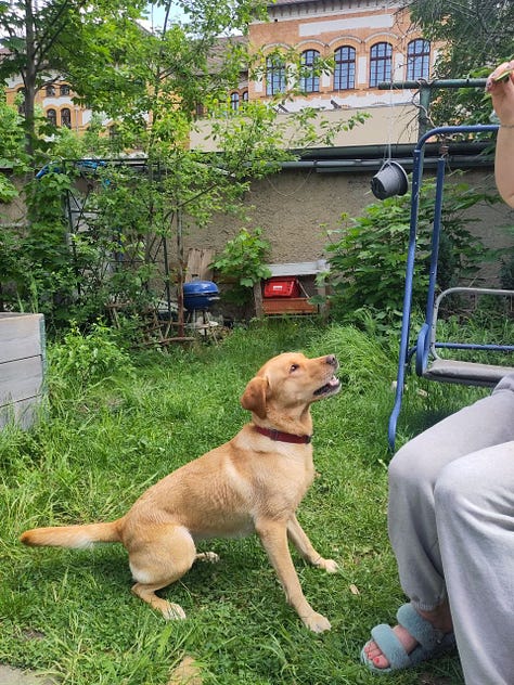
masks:
MULTIPOLYGON (((113 73, 116 56, 138 30, 143 0, 2 0, 0 30, 8 53, 0 62, 0 78, 22 76, 25 150, 34 157, 43 144, 35 111, 36 92, 64 78, 78 65, 113 73)), ((74 87, 80 88, 76 81, 74 87)))

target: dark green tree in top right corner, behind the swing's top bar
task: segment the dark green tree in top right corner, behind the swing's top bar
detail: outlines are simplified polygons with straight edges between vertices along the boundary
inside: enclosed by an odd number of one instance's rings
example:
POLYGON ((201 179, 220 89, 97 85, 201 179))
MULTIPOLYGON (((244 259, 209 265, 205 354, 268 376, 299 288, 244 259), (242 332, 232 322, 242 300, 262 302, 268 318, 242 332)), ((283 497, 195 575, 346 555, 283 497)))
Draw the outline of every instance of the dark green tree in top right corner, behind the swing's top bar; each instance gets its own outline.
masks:
MULTIPOLYGON (((406 0, 413 22, 440 43, 434 77, 480 78, 514 56, 512 0, 406 0)), ((490 106, 477 89, 440 90, 433 95, 436 126, 488 122, 490 106)))

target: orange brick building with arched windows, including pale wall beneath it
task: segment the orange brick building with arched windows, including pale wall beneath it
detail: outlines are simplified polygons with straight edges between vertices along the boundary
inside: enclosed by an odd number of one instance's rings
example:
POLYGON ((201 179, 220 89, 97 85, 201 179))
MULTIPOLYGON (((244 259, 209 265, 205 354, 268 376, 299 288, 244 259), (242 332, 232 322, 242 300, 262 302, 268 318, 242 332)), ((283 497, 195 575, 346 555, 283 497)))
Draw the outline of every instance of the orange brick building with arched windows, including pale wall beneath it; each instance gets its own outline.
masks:
MULTIPOLYGON (((365 112, 369 120, 351 134, 340 132, 336 145, 417 140, 417 88, 380 88, 428 81, 437 59, 437 46, 412 25, 402 0, 277 0, 268 14, 268 22, 249 26, 249 51, 261 66, 230 93, 233 109, 246 100, 279 101, 281 116, 308 106, 322 111, 331 124, 365 112), (293 52, 299 65, 287 64, 293 52), (332 68, 317 69, 320 60, 332 68)), ((194 147, 205 145, 207 128, 201 125, 193 133, 194 147)))

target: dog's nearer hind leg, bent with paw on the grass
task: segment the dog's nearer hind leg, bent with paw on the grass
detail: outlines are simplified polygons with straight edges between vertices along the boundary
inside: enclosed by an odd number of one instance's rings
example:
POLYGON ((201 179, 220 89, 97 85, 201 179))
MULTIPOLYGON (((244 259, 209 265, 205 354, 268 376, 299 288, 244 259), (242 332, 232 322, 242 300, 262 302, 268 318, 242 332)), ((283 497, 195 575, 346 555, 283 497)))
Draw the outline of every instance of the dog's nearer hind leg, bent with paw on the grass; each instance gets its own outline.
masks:
POLYGON ((165 619, 184 619, 178 604, 167 602, 155 593, 179 580, 193 565, 196 548, 189 531, 169 524, 145 528, 144 538, 134 537, 129 550, 129 564, 134 595, 160 611, 165 619))

